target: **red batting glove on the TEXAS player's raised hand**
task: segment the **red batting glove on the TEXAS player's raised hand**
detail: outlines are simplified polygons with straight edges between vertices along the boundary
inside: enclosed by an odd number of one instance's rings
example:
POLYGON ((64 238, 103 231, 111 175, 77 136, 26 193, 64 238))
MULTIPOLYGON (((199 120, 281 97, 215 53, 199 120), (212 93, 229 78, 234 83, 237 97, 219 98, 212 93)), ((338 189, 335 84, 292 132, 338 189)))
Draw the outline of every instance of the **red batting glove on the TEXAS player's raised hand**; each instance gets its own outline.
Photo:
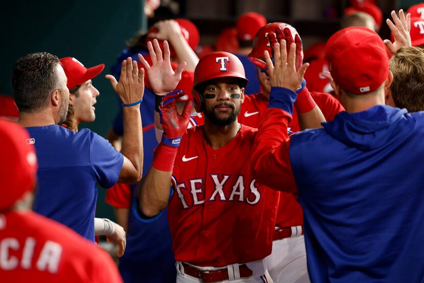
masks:
POLYGON ((187 101, 182 111, 178 114, 176 99, 185 95, 182 90, 174 90, 162 99, 159 106, 160 124, 162 125, 162 143, 171 147, 180 145, 181 137, 187 129, 190 121, 193 101, 187 101))

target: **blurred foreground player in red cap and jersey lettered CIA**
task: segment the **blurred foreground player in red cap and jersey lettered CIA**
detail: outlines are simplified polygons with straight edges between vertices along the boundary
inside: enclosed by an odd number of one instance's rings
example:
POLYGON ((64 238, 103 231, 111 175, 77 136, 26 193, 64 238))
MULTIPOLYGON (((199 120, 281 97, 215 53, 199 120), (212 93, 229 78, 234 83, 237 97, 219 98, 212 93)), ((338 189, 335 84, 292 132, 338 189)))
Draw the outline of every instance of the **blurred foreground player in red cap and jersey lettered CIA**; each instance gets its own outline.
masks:
POLYGON ((105 251, 31 211, 37 157, 18 124, 0 120, 0 155, 1 281, 122 282, 105 251))

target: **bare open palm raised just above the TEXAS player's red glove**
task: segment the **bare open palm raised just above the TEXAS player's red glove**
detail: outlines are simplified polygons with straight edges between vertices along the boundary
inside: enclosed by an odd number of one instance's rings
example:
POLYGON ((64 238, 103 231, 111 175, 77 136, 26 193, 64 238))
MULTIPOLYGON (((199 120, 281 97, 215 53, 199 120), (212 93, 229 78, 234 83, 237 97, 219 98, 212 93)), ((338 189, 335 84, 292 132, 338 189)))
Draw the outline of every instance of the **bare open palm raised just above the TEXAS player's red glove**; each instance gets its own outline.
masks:
POLYGON ((177 87, 178 82, 181 80, 181 73, 182 69, 185 67, 185 62, 179 63, 174 72, 171 67, 168 42, 166 40, 163 41, 163 58, 162 51, 156 39, 153 39, 153 45, 154 46, 152 46, 151 42, 147 43, 152 65, 150 66, 141 54, 138 54, 138 60, 146 69, 153 92, 156 93, 156 95, 164 96, 177 87))

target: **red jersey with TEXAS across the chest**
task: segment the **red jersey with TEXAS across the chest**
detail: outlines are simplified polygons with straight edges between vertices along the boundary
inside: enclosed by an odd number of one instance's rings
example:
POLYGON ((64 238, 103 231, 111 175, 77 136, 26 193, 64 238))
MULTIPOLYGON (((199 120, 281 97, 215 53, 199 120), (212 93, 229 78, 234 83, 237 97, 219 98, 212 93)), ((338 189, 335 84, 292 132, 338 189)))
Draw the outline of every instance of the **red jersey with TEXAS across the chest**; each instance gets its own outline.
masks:
POLYGON ((214 150, 203 126, 187 130, 176 155, 168 219, 177 261, 223 267, 271 253, 279 192, 252 177, 257 129, 241 126, 214 150))

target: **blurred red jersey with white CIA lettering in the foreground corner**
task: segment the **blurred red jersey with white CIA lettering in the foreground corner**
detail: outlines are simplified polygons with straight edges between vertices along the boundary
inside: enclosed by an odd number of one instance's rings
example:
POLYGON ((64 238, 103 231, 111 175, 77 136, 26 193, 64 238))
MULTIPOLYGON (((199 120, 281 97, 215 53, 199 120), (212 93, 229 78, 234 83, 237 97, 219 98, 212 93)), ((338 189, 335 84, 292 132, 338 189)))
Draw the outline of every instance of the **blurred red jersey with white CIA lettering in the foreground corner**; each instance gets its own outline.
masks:
POLYGON ((32 211, 0 214, 2 282, 122 282, 110 256, 32 211))

